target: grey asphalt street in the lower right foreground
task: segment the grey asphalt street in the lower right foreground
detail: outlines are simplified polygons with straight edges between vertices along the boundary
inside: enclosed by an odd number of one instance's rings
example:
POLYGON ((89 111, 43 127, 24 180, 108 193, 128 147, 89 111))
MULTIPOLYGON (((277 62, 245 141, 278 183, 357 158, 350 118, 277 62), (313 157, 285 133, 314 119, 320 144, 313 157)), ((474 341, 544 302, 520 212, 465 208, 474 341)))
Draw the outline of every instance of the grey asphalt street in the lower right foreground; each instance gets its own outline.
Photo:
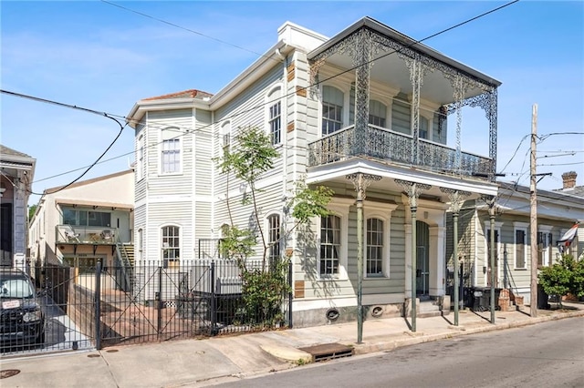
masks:
POLYGON ((422 343, 221 386, 582 387, 584 318, 422 343))

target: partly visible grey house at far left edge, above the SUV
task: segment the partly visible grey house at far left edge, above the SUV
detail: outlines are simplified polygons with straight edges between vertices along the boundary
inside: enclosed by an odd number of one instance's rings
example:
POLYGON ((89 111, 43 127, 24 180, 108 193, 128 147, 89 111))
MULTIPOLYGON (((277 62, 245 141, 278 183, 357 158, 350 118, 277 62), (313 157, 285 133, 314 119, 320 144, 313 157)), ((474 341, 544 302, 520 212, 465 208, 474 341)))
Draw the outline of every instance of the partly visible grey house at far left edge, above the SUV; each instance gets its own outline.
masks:
POLYGON ((0 265, 26 270, 26 205, 36 159, 0 145, 0 265))

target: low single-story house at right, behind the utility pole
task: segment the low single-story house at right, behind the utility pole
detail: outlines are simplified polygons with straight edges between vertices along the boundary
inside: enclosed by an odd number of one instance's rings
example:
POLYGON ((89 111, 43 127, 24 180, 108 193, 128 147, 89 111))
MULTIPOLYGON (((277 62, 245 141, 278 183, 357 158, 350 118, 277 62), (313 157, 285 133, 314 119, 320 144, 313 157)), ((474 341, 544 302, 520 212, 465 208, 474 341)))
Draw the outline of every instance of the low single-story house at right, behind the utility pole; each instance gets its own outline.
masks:
MULTIPOLYGON (((508 289, 530 301, 531 230, 530 190, 512 183, 499 183, 495 202, 495 288, 508 289)), ((562 250, 558 240, 577 220, 584 219, 584 198, 558 191, 537 189, 537 266, 558 262, 562 250)), ((451 221, 449 219, 449 225, 451 221)), ((490 287, 491 220, 485 201, 472 200, 464 204, 459 218, 458 260, 462 264, 464 287, 490 287)), ((449 228, 446 240, 452 240, 449 228)), ((448 245, 449 267, 452 270, 452 245, 448 245)), ((573 241, 565 250, 579 254, 573 241)), ((451 274, 452 276, 452 274, 451 274)))

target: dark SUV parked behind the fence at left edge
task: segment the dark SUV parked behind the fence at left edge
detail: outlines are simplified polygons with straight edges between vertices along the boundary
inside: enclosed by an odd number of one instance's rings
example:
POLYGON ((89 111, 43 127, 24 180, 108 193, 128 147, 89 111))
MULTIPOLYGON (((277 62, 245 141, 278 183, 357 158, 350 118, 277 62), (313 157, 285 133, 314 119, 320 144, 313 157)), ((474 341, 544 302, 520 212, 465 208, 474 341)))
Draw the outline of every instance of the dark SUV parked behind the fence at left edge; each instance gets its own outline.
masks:
POLYGON ((25 272, 0 269, 0 346, 45 342, 45 314, 25 272))

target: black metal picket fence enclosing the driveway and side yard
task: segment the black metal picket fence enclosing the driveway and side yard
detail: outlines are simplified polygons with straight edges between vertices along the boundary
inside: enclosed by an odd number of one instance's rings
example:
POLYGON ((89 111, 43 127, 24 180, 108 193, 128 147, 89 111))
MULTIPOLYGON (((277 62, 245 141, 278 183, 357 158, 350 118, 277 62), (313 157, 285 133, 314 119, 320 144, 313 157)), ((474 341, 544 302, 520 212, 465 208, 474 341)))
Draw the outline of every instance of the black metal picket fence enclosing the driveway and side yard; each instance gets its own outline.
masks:
POLYGON ((3 342, 2 356, 292 325, 289 263, 266 268, 261 261, 242 267, 235 260, 139 262, 131 267, 98 262, 93 269, 46 267, 43 278, 38 290, 45 316, 43 341, 3 342), (246 285, 266 278, 272 281, 270 298, 256 283, 246 285))

